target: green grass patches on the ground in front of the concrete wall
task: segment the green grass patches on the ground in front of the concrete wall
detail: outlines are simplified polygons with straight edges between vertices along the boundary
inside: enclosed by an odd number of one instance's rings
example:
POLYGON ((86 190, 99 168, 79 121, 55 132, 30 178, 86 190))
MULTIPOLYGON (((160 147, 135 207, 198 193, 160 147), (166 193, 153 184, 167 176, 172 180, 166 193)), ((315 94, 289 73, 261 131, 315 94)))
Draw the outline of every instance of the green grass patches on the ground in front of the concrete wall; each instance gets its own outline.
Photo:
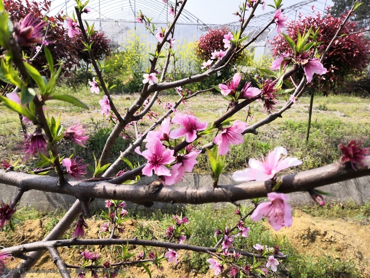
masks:
MULTIPOLYGON (((170 225, 172 216, 174 214, 182 214, 182 216, 187 216, 189 220, 189 224, 186 226, 187 243, 212 247, 216 243, 216 239, 213 236, 215 228, 218 227, 222 229, 225 225, 232 227, 238 221, 238 216, 233 215, 235 209, 236 207, 232 204, 225 204, 219 207, 215 207, 213 204, 189 205, 186 207, 168 205, 163 210, 142 209, 141 207, 134 206, 129 209, 129 215, 134 216, 134 219, 139 223, 131 233, 139 239, 166 241, 164 231, 165 228, 170 225), (143 221, 147 224, 140 224, 143 221), (154 222, 157 224, 151 225, 151 223, 154 222)), ((243 214, 247 213, 250 209, 250 206, 240 208, 243 214)), ((310 206, 297 209, 305 211, 312 216, 322 218, 344 217, 363 219, 363 217, 370 217, 370 200, 363 206, 357 206, 353 201, 348 201, 346 204, 333 204, 325 206, 322 209, 310 206)), ((21 221, 26 221, 27 219, 41 219, 43 221, 43 227, 46 233, 48 233, 64 213, 64 211, 43 213, 31 207, 24 207, 17 210, 15 217, 21 221)), ((97 219, 101 218, 99 215, 95 217, 97 219)), ((249 235, 246 238, 236 237, 233 243, 235 248, 253 252, 254 249, 252 245, 256 243, 269 246, 274 245, 275 235, 273 235, 270 230, 266 229, 262 221, 254 222, 247 218, 244 222, 246 227, 250 227, 249 235)), ((63 238, 69 238, 71 232, 72 231, 68 231, 68 234, 64 235, 63 238)), ((14 236, 13 232, 8 230, 5 235, 7 240, 9 240, 11 236, 14 236)), ((297 255, 297 250, 289 243, 289 238, 286 238, 284 243, 280 245, 280 250, 288 257, 297 255)), ((199 273, 206 273, 208 271, 209 263, 206 262, 208 258, 208 254, 196 252, 186 252, 184 257, 182 257, 188 267, 195 269, 195 271, 199 273)), ((295 260, 281 261, 275 277, 320 278, 361 276, 357 266, 348 258, 339 259, 331 255, 317 256, 316 254, 301 253, 295 260)))

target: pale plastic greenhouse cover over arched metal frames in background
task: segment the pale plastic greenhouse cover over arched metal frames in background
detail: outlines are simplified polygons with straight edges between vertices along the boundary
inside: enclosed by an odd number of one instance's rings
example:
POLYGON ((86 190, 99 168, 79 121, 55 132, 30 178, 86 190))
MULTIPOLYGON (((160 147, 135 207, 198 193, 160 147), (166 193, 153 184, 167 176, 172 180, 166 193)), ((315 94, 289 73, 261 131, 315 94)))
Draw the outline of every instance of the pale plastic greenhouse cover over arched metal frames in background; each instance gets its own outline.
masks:
MULTIPOLYGON (((306 0, 292 6, 283 5, 283 13, 289 20, 295 20, 299 14, 308 16, 314 11, 323 13, 327 8, 329 0, 306 0)), ((288 1, 286 1, 288 3, 288 1)), ((50 15, 55 15, 63 11, 63 14, 72 15, 75 6, 75 0, 54 0, 51 4, 50 15)), ((101 29, 114 42, 115 45, 121 45, 126 42, 129 33, 135 31, 140 37, 145 37, 149 43, 156 44, 157 39, 145 30, 141 23, 137 23, 135 17, 139 11, 152 19, 152 23, 158 27, 165 27, 167 22, 171 21, 172 16, 168 14, 168 4, 162 0, 90 0, 88 3, 91 12, 85 16, 89 23, 95 22, 95 27, 101 29)), ((275 12, 255 16, 249 23, 244 35, 252 37, 258 34, 260 30, 273 18, 275 12)), ((85 15, 85 14, 84 14, 85 15)), ((240 27, 238 21, 224 24, 224 26, 235 31, 240 27)), ((222 27, 222 25, 205 24, 194 15, 183 10, 178 19, 175 29, 176 44, 196 41, 209 28, 222 27)), ((264 46, 266 42, 276 35, 275 24, 268 28, 254 43, 255 46, 264 46)), ((266 52, 266 51, 265 51, 266 52)))

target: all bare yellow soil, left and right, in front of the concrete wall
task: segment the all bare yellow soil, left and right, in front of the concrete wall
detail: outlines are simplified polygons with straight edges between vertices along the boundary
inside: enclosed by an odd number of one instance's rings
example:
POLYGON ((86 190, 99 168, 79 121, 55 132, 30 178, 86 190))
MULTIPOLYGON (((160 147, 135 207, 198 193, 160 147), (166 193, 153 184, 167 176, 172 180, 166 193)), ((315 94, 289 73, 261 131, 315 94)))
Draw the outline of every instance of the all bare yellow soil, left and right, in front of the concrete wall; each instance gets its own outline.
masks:
MULTIPOLYGON (((158 221, 156 221, 158 222, 158 221)), ((89 230, 87 231, 87 238, 99 238, 99 228, 103 221, 87 221, 89 230)), ((149 224, 148 222, 141 222, 141 224, 149 224)), ((159 223, 150 223, 152 226, 158 226, 159 223)), ((138 222, 135 220, 128 220, 125 222, 125 237, 133 237, 138 222)), ((267 226, 266 226, 267 227, 267 226)), ((20 224, 16 232, 11 236, 0 232, 1 245, 10 246, 21 243, 29 243, 38 241, 43 238, 45 229, 41 220, 27 220, 20 224)), ((158 231, 159 233, 159 231, 158 231)), ((326 219, 323 217, 313 217, 302 211, 296 210, 293 218, 293 226, 284 228, 276 233, 277 235, 286 235, 287 239, 299 251, 299 255, 303 258, 305 254, 311 253, 316 256, 328 255, 340 260, 353 260, 363 277, 370 277, 370 224, 368 222, 360 222, 353 220, 346 220, 343 218, 326 219)), ((90 251, 99 252, 102 258, 110 258, 108 254, 111 253, 108 247, 98 246, 95 250, 90 251)), ((130 252, 140 252, 141 247, 135 247, 130 252)), ((81 261, 81 252, 84 249, 58 248, 61 257, 67 264, 78 265, 81 261)), ((163 250, 157 250, 159 254, 163 250)), ((152 271, 153 278, 210 278, 215 277, 213 271, 210 269, 207 274, 199 274, 182 259, 187 251, 179 251, 178 265, 170 264, 167 261, 163 262, 164 271, 160 272, 155 267, 149 267, 152 271)), ((117 253, 116 253, 117 254, 117 253)), ((111 258, 110 258, 111 259, 111 258)), ((20 262, 20 259, 14 258, 7 263, 8 268, 14 268, 20 262)), ((112 261, 112 260, 111 260, 112 261)), ((50 260, 50 255, 45 254, 40 261, 37 262, 34 269, 57 269, 54 263, 50 260)), ((226 272, 224 271, 224 275, 226 272)), ((90 276, 90 274, 89 274, 90 276)), ((53 278, 60 277, 58 274, 40 274, 30 273, 27 277, 53 278)), ((73 271, 71 277, 77 277, 73 271)), ((145 270, 141 267, 130 267, 125 269, 125 275, 120 277, 148 277, 145 270)), ((226 276, 225 276, 226 277, 226 276)))

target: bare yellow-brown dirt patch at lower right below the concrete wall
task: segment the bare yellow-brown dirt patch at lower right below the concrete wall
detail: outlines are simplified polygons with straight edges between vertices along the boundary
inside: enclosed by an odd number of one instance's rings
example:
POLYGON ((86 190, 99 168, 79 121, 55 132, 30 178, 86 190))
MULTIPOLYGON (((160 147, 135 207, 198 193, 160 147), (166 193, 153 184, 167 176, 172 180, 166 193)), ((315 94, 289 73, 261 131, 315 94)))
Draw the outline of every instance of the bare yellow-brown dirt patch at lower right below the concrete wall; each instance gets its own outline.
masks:
POLYGON ((325 219, 295 211, 293 225, 277 235, 286 235, 300 254, 329 255, 353 260, 364 277, 370 277, 370 224, 342 218, 325 219))

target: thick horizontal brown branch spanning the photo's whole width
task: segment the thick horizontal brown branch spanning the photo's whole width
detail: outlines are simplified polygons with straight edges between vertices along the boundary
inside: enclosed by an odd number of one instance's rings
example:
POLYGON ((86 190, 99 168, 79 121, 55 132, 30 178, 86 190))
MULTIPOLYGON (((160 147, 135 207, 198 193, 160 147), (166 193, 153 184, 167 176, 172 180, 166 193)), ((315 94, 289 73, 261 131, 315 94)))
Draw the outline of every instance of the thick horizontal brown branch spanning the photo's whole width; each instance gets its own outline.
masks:
MULTIPOLYGON (((131 171, 140 174, 142 166, 131 171)), ((279 188, 281 193, 292 193, 296 191, 307 191, 316 187, 324 186, 349 180, 356 177, 367 176, 370 169, 362 167, 353 170, 351 167, 344 167, 339 162, 323 166, 317 169, 282 176, 282 185, 279 188)), ((122 175, 124 176, 124 175, 122 175)), ((121 177, 122 177, 121 176, 121 177)), ((45 192, 55 192, 68 194, 77 198, 100 198, 100 199, 119 199, 131 201, 133 203, 163 202, 163 203, 186 203, 203 204, 215 202, 234 202, 238 200, 265 197, 271 188, 271 182, 245 182, 217 186, 212 188, 211 184, 204 187, 169 187, 158 183, 142 185, 112 184, 110 182, 83 182, 70 181, 63 187, 58 186, 58 180, 54 177, 34 176, 31 174, 5 172, 0 170, 0 182, 17 186, 23 190, 42 190, 45 192)))

